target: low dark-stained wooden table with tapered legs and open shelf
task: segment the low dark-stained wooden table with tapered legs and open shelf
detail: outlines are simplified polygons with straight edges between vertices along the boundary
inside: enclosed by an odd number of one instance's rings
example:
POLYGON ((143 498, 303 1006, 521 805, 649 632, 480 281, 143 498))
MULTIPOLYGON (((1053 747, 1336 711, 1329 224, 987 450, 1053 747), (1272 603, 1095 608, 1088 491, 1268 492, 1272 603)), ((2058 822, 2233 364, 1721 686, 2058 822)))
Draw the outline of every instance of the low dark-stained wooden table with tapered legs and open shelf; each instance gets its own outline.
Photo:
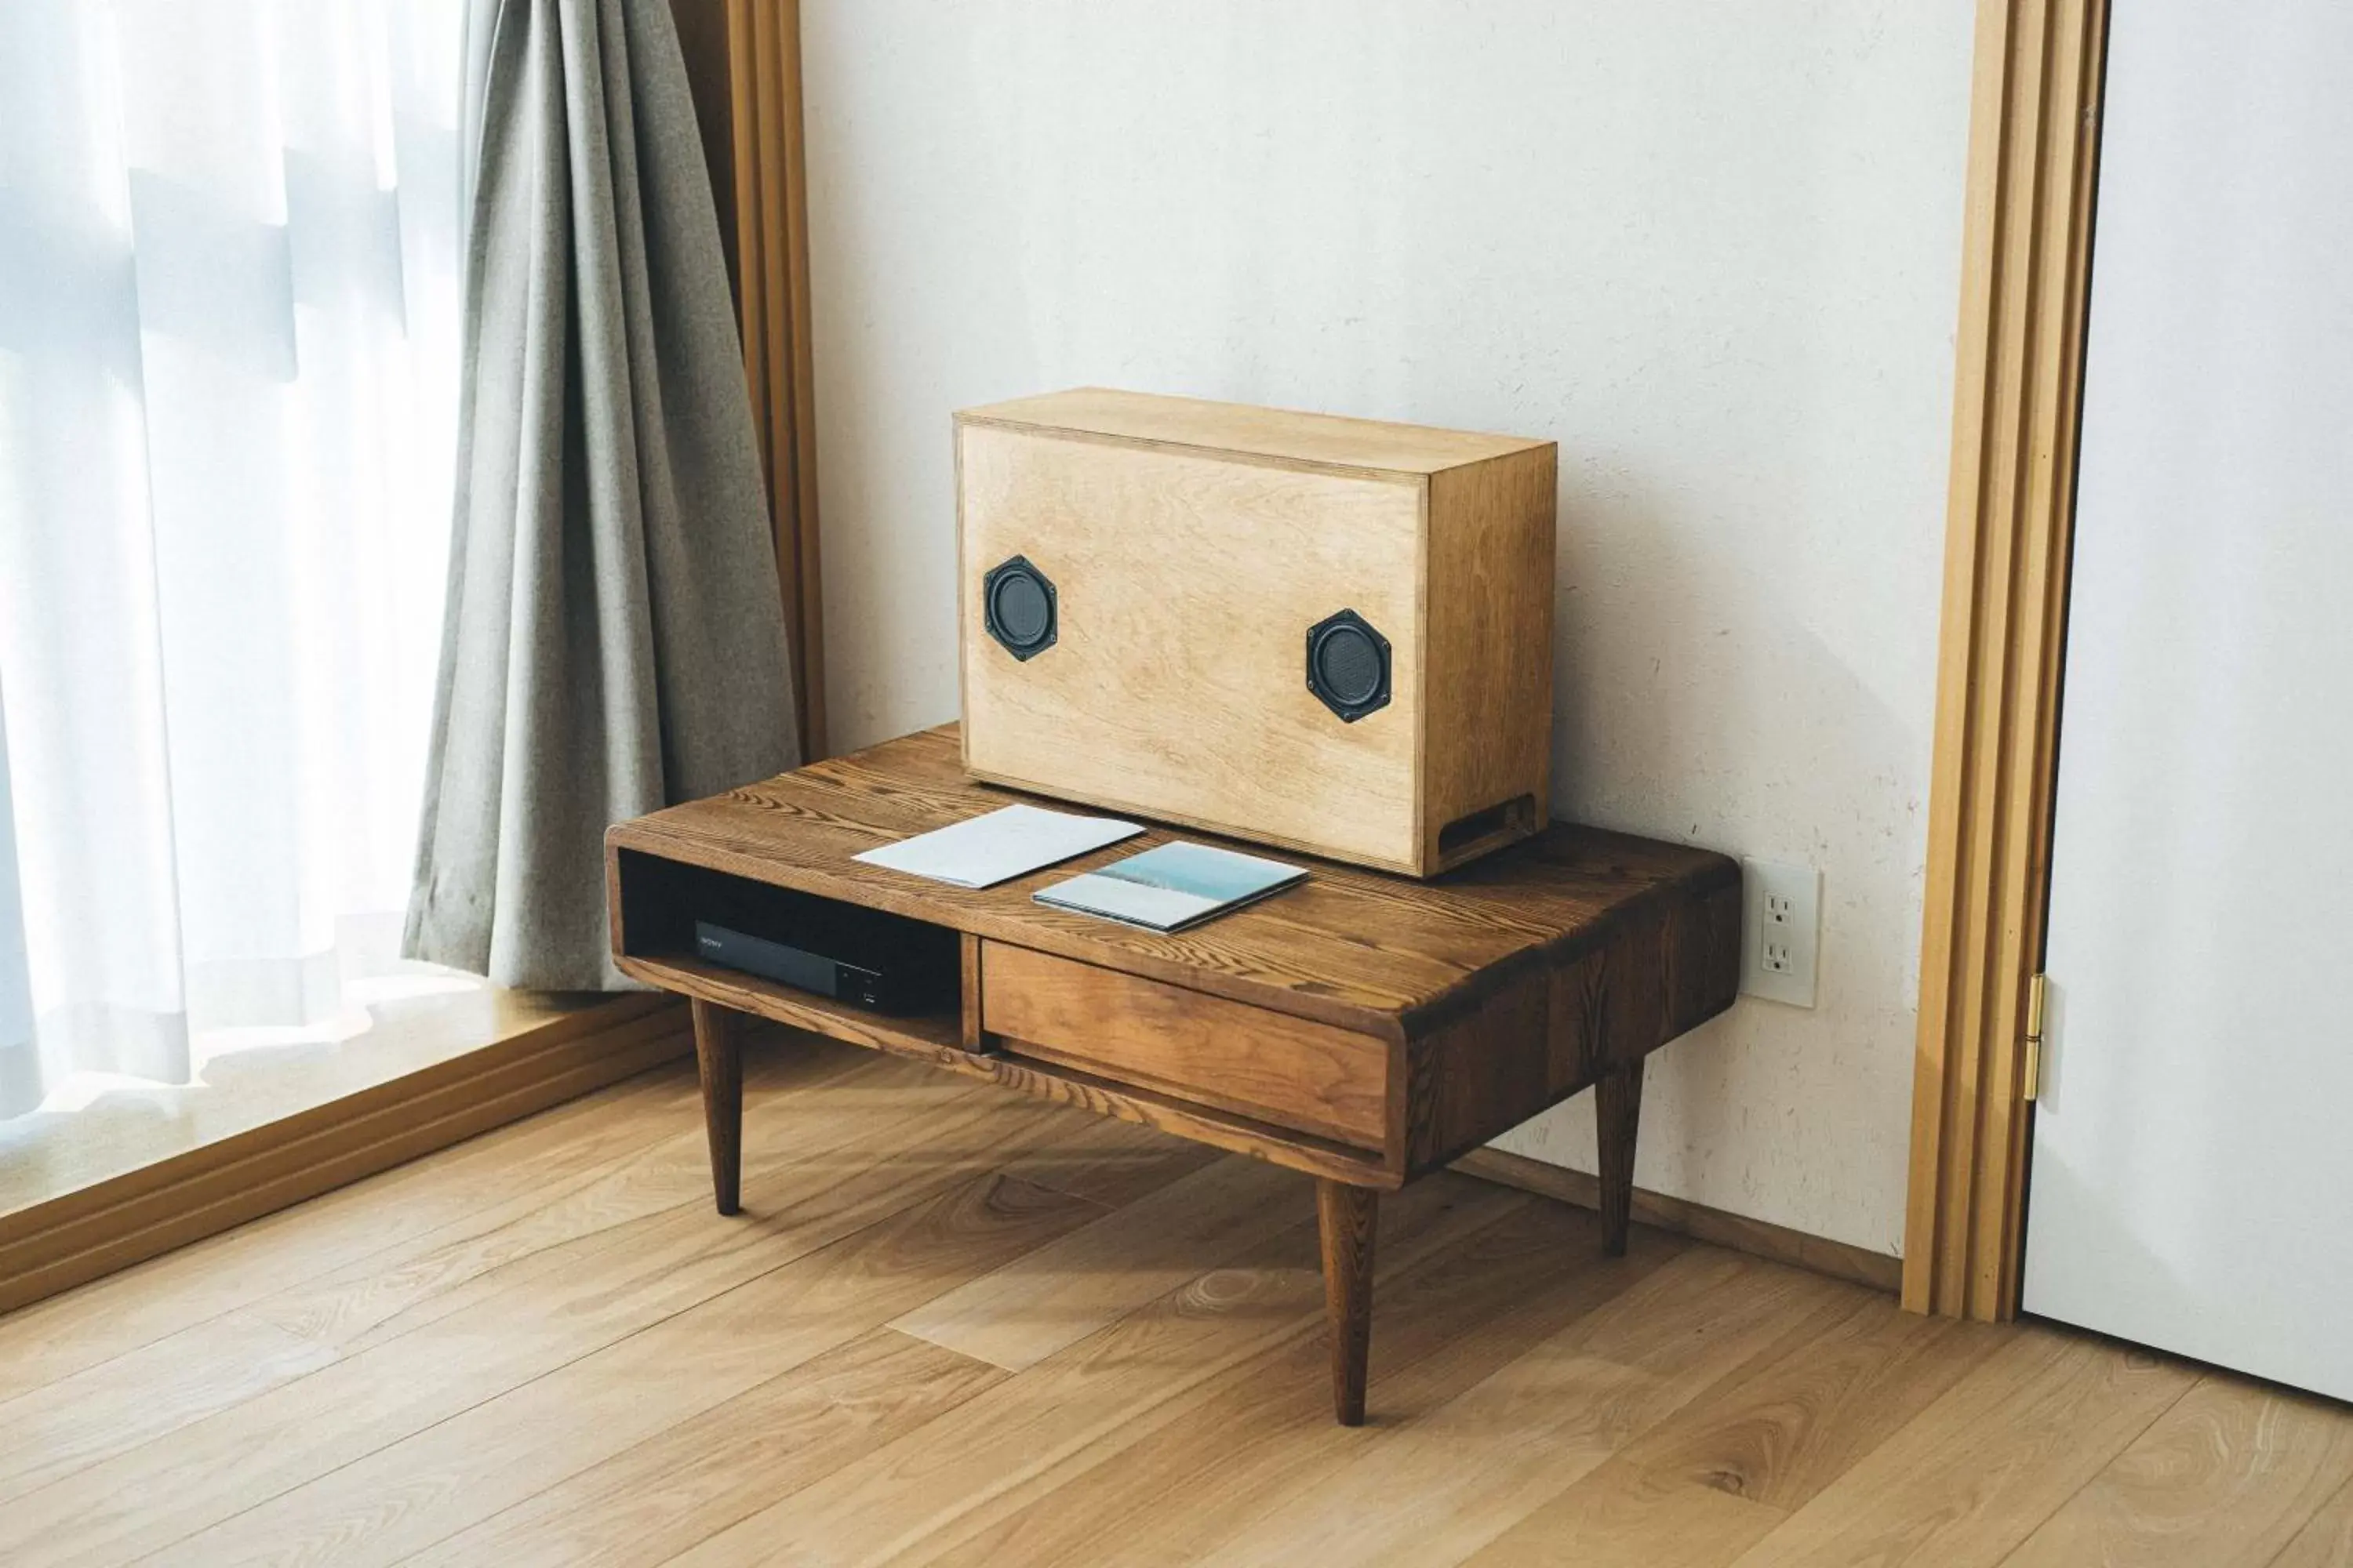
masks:
POLYGON ((1165 830, 993 889, 849 858, 1019 799, 965 778, 944 726, 605 837, 619 966, 694 1001, 720 1213, 744 1117, 729 1020, 758 1013, 1313 1175, 1346 1425, 1365 1418, 1381 1192, 1595 1088, 1602 1237, 1626 1248, 1642 1058, 1739 990, 1734 860, 1558 823, 1435 882, 1311 863, 1299 889, 1155 936, 1031 893, 1165 830), (696 919, 812 905, 936 933, 936 1006, 882 1016, 696 957, 696 919))

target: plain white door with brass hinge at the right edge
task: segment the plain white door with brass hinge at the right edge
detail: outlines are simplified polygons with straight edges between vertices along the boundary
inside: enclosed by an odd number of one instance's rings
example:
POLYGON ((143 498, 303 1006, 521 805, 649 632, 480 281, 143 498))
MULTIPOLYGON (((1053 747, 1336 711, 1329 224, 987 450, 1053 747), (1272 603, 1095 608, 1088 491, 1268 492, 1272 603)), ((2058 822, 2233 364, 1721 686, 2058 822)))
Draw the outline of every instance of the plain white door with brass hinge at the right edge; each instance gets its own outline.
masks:
POLYGON ((2353 1399, 2353 7, 2111 28, 2026 1309, 2353 1399))

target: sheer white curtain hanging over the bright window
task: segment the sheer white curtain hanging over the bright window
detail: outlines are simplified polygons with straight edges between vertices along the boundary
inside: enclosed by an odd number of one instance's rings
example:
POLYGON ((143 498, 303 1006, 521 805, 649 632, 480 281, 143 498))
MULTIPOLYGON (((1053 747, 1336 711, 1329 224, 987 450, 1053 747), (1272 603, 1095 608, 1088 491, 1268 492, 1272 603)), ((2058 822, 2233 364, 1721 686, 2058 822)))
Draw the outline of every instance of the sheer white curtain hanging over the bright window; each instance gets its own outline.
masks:
POLYGON ((0 1117, 393 964, 459 0, 0 0, 0 1117))

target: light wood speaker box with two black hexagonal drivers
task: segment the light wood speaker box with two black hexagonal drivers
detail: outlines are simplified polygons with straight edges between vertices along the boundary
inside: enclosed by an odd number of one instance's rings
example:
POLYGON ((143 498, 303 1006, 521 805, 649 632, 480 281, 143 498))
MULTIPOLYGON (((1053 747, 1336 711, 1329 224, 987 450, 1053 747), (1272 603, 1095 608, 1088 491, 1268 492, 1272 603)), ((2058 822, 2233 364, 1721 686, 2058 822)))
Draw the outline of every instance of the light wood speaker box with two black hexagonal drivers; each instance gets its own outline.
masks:
POLYGON ((974 778, 1414 877, 1546 823, 1551 442, 1085 388, 955 468, 974 778))

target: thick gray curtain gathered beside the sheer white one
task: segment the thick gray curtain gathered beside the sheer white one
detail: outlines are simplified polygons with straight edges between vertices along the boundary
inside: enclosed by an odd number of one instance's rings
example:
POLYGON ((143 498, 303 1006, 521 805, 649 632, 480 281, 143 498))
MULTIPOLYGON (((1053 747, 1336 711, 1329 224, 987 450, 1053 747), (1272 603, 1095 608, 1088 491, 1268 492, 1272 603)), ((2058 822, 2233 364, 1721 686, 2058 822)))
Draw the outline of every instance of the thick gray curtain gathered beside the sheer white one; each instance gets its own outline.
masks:
POLYGON ((798 762, 668 0, 475 0, 466 386, 409 957, 614 990, 609 823, 798 762))

